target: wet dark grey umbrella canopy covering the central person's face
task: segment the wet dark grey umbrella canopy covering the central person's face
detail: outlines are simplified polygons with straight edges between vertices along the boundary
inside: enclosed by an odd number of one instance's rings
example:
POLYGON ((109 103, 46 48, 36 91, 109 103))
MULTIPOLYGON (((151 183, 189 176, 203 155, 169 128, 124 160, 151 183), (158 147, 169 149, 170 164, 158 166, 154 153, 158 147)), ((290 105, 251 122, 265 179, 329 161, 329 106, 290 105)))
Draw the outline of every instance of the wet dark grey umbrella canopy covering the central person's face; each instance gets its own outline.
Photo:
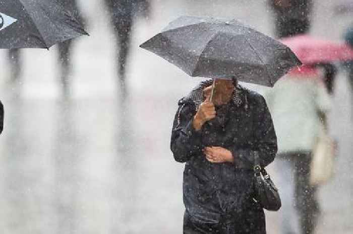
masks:
POLYGON ((230 77, 273 87, 300 60, 284 44, 237 20, 180 17, 140 47, 190 76, 230 77))

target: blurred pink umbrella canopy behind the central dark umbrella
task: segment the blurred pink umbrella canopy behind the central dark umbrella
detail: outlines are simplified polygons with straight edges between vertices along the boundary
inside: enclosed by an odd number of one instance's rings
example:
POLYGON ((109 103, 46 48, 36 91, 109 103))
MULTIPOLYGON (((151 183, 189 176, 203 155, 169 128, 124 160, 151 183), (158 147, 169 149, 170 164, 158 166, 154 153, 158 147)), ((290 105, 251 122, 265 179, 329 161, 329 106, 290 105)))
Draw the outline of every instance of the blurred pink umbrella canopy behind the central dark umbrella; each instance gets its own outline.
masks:
POLYGON ((353 49, 344 42, 334 42, 309 35, 283 38, 303 64, 353 60, 353 49))

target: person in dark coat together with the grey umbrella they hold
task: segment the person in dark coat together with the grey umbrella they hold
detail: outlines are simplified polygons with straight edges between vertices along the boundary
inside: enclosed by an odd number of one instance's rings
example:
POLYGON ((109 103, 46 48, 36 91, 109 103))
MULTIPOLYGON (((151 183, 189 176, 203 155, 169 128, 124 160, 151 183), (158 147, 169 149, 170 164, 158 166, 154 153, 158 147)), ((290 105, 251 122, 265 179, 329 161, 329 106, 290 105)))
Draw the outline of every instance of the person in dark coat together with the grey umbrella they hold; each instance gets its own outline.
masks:
POLYGON ((184 233, 266 233, 254 167, 274 160, 276 134, 265 99, 239 81, 272 87, 298 58, 250 26, 214 18, 178 18, 141 47, 212 78, 179 101, 172 125, 174 160, 186 163, 184 233))

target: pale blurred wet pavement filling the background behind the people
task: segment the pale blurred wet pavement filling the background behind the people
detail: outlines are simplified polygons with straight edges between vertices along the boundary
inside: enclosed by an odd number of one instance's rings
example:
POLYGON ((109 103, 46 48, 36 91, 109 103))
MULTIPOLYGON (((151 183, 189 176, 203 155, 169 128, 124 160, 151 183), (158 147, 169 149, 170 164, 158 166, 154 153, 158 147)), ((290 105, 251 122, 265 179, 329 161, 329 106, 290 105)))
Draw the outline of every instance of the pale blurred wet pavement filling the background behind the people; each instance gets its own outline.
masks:
MULTIPOLYGON (((337 15, 334 0, 314 1, 311 35, 342 40, 353 13, 337 15)), ((139 48, 182 15, 239 19, 273 35, 262 0, 153 0, 134 18, 126 61, 126 97, 116 71, 116 38, 104 0, 79 0, 90 37, 72 44, 72 68, 61 79, 57 46, 21 50, 14 79, 0 50, 1 233, 181 233, 183 164, 169 149, 178 100, 191 78, 139 48), (124 98, 124 102, 122 99, 124 98)), ((248 86, 266 92, 266 88, 248 86)), ((352 94, 338 70, 330 132, 338 140, 335 177, 320 188, 317 233, 353 231, 352 94)), ((276 180, 276 172, 272 170, 276 180)), ((267 212, 268 233, 279 233, 267 212)))

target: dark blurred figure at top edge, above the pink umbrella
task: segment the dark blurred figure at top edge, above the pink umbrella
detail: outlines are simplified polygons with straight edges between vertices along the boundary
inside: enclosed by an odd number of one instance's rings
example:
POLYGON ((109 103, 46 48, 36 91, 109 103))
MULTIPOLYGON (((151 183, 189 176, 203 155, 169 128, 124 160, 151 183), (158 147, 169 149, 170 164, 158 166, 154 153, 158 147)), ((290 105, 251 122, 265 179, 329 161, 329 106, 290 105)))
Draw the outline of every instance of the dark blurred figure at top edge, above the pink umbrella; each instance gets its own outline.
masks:
POLYGON ((268 0, 274 15, 277 38, 309 32, 311 26, 312 0, 268 0))

